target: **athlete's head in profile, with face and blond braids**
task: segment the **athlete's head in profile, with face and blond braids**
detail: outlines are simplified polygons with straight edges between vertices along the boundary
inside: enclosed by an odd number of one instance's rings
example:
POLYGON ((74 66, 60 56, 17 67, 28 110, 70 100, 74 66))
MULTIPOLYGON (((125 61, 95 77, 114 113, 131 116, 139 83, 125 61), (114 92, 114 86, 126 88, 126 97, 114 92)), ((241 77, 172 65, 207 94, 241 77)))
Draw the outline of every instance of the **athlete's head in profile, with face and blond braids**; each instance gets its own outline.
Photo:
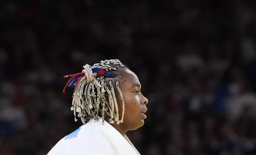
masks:
POLYGON ((74 87, 71 110, 75 121, 78 114, 84 124, 101 117, 126 130, 144 125, 148 100, 134 72, 116 59, 83 67, 82 73, 64 76, 71 77, 66 87, 74 87))

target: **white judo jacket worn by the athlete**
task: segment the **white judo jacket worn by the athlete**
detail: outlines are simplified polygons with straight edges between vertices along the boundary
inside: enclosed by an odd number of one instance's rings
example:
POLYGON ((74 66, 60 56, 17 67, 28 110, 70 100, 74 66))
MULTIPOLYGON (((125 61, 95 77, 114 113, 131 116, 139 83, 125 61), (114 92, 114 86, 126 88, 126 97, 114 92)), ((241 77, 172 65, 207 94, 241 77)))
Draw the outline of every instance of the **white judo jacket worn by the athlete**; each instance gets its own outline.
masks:
POLYGON ((102 119, 82 125, 75 138, 66 137, 47 155, 140 155, 126 135, 102 119))

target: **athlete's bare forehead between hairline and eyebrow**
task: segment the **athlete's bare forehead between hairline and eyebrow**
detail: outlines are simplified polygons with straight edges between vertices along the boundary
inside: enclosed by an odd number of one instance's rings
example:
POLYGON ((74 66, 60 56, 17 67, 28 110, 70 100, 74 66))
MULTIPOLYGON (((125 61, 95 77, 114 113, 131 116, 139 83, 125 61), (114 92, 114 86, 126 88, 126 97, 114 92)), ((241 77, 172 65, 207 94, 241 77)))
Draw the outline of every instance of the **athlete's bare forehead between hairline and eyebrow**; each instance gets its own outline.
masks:
POLYGON ((132 87, 134 84, 140 85, 138 76, 131 70, 126 69, 125 74, 122 75, 122 78, 124 79, 124 83, 122 85, 126 87, 132 87))

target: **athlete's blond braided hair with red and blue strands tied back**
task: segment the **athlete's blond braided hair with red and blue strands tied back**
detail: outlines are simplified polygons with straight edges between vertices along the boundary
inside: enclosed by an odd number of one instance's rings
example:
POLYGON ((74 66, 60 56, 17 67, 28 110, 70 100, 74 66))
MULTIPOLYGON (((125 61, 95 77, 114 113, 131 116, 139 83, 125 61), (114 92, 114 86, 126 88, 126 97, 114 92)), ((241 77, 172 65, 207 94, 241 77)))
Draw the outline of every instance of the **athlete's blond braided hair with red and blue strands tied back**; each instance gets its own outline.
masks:
POLYGON ((109 123, 123 123, 125 105, 119 82, 124 82, 122 73, 129 68, 117 59, 102 60, 93 66, 86 64, 83 68, 81 73, 64 76, 70 77, 66 87, 74 88, 71 110, 74 111, 75 121, 78 113, 83 124, 91 119, 98 120, 99 117, 104 121, 106 116, 110 118, 109 123), (116 94, 122 100, 121 118, 116 94))

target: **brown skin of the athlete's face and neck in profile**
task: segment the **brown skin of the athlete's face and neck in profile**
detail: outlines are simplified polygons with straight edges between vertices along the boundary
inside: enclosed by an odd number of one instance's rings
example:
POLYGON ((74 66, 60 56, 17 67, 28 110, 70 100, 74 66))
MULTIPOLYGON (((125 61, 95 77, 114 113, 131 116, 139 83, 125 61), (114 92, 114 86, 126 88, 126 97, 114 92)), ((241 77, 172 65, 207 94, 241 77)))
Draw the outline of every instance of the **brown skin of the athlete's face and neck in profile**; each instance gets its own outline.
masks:
MULTIPOLYGON (((140 81, 134 72, 126 69, 122 76, 124 82, 119 83, 119 87, 124 96, 124 121, 119 125, 116 123, 111 125, 124 136, 127 131, 136 130, 144 125, 144 119, 146 118, 144 113, 147 111, 146 104, 148 100, 142 95, 140 91, 140 81)), ((122 100, 118 93, 116 93, 116 99, 118 103, 119 119, 121 119, 122 100)))

